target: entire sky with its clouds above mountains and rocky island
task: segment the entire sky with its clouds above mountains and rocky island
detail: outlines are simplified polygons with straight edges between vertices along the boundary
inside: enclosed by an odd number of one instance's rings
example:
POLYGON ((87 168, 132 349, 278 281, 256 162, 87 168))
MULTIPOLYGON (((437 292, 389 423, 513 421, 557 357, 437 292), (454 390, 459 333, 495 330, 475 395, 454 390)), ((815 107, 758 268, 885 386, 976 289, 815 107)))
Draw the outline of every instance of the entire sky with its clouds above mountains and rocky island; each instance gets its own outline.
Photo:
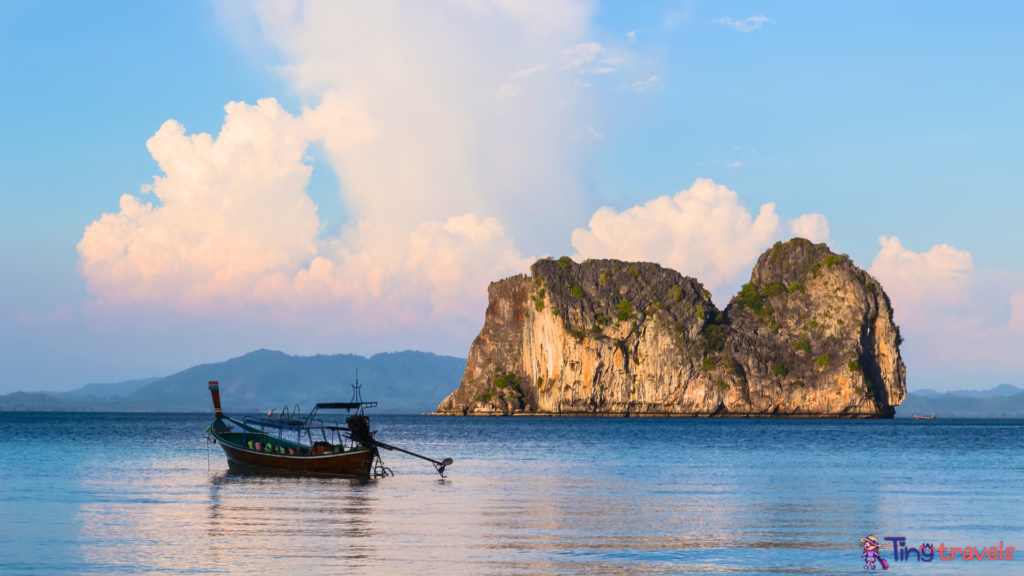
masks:
POLYGON ((540 256, 719 306, 883 284, 912 389, 1024 385, 1019 3, 0 2, 0 393, 465 356, 540 256))

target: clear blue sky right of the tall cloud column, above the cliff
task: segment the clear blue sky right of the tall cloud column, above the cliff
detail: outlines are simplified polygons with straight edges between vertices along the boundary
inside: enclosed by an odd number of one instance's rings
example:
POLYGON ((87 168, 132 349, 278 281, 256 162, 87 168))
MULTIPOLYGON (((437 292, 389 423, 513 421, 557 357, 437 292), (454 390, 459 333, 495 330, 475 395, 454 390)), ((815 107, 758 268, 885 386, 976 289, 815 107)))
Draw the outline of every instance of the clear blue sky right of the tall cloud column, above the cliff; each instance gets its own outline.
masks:
POLYGON ((1021 6, 949 7, 695 4, 678 29, 604 10, 608 29, 653 29, 667 88, 615 118, 608 134, 621 145, 600 152, 593 177, 627 202, 713 177, 751 204, 826 214, 859 261, 877 237, 898 234, 907 246, 946 242, 976 264, 1019 270, 1020 251, 1006 248, 1024 239, 1014 169, 1024 90, 1013 72, 1024 38, 1011 24, 1021 6), (761 13, 775 22, 745 34, 710 23, 761 13), (742 167, 727 168, 732 159, 742 167))

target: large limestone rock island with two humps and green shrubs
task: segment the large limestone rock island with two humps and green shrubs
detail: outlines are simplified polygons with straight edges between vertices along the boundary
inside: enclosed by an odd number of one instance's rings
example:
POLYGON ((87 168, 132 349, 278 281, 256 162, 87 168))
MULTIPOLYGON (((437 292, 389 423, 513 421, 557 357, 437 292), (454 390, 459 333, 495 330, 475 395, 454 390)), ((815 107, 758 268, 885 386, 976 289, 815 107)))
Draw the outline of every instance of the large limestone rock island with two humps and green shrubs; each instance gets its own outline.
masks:
POLYGON ((440 414, 891 417, 906 395, 889 298, 824 244, 777 243, 724 312, 650 262, 542 259, 488 293, 440 414))

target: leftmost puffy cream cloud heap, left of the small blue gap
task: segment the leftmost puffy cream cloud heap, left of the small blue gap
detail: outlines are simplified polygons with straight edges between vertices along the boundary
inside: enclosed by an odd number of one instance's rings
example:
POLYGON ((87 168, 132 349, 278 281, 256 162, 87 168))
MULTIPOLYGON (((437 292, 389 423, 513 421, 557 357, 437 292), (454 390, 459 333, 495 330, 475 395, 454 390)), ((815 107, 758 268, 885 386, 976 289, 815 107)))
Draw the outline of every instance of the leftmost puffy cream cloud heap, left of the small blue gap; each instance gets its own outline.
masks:
POLYGON ((294 273, 316 253, 319 220, 305 194, 311 168, 299 119, 273 100, 231 102, 217 138, 166 122, 146 142, 164 171, 162 205, 121 197, 86 228, 79 265, 108 299, 247 296, 259 279, 294 273))

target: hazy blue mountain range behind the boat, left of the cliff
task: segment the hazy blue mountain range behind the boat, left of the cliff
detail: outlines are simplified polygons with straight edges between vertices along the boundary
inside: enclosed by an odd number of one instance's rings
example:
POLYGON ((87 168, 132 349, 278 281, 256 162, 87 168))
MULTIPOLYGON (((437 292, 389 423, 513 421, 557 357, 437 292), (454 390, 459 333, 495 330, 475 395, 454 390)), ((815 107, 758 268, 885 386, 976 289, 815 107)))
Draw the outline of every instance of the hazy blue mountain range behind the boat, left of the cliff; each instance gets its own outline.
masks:
POLYGON ((86 384, 66 393, 0 396, 0 411, 212 412, 209 380, 220 382, 224 412, 266 412, 298 404, 347 402, 358 370, 362 398, 379 402, 380 414, 432 412, 459 387, 466 359, 423 352, 289 356, 260 349, 203 364, 165 378, 86 384))

